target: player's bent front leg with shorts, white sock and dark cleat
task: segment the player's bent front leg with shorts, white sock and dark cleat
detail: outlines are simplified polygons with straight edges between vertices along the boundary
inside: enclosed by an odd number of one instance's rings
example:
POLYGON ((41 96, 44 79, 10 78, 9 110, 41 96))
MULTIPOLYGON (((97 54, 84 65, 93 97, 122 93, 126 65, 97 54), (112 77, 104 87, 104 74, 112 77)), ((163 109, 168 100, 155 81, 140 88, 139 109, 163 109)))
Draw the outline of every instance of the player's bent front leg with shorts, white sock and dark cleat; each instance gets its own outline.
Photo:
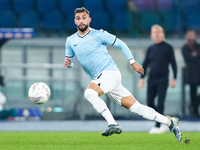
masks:
POLYGON ((103 136, 120 134, 121 127, 116 123, 105 102, 99 97, 105 92, 113 89, 121 81, 121 75, 118 71, 104 71, 92 80, 85 90, 86 99, 93 105, 108 123, 108 129, 102 133, 103 136))

